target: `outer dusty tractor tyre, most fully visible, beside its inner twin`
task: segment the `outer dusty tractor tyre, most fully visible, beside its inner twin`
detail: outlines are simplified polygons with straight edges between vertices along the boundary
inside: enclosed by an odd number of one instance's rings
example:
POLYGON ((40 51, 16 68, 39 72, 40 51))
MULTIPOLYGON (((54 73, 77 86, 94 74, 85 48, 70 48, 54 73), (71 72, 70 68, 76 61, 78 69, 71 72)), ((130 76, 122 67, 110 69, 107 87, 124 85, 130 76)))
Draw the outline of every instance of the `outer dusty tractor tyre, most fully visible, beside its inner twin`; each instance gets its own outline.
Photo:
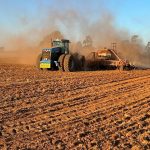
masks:
POLYGON ((75 61, 72 55, 66 55, 64 59, 64 71, 73 72, 75 71, 75 61))

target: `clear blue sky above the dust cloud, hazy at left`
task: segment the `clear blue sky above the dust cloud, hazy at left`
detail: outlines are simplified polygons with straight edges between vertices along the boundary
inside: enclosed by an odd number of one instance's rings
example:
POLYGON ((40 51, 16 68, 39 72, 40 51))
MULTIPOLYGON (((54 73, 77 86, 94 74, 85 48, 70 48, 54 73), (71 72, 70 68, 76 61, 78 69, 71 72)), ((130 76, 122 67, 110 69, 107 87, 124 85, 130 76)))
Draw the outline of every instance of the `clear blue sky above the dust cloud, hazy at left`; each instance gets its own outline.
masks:
MULTIPOLYGON (((149 0, 0 0, 0 46, 10 36, 53 26, 53 13, 63 14, 71 10, 90 22, 107 12, 113 16, 117 28, 127 30, 131 35, 137 34, 147 43, 150 41, 149 6, 149 0), (51 15, 53 17, 48 17, 51 15), (46 26, 48 18, 51 20, 46 26)), ((63 19, 59 20, 61 22, 63 19)))

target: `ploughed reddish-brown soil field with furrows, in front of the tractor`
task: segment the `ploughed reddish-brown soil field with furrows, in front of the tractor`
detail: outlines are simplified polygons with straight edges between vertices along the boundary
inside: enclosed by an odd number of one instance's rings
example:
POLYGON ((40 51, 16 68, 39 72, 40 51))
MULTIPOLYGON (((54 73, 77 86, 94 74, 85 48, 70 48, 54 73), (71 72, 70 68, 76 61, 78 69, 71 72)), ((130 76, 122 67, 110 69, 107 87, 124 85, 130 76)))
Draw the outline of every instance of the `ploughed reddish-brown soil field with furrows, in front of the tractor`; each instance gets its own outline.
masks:
POLYGON ((1 64, 0 149, 150 149, 150 70, 1 64))

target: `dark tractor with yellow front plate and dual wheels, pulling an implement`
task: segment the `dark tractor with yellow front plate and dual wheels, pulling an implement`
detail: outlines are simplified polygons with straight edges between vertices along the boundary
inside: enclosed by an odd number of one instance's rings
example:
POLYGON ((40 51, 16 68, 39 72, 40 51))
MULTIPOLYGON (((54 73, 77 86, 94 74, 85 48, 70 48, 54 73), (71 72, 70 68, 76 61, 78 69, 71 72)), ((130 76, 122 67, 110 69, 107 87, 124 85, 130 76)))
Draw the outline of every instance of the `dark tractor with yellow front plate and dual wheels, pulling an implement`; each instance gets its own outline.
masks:
POLYGON ((52 48, 44 48, 38 57, 38 68, 73 72, 82 68, 84 57, 70 54, 69 40, 56 39, 52 41, 52 48))

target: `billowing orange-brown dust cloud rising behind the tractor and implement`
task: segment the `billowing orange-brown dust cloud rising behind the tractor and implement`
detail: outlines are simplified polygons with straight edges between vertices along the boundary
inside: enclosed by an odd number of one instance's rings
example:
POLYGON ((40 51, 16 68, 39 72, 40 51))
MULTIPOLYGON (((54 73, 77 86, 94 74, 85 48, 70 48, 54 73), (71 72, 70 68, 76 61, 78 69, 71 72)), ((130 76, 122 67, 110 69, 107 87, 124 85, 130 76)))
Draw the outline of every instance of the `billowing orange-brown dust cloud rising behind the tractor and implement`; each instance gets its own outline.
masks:
MULTIPOLYGON (((46 12, 47 16, 39 20, 40 25, 9 36, 4 45, 5 51, 0 51, 0 62, 35 64, 41 49, 51 47, 52 39, 67 38, 71 41, 71 51, 82 55, 103 47, 111 48, 111 43, 117 43, 117 52, 124 59, 134 65, 150 67, 150 53, 142 40, 132 39, 127 30, 117 28, 115 17, 109 12, 100 12, 96 21, 74 10, 46 12)), ((26 16, 20 21, 25 26, 31 20, 26 16)), ((34 20, 32 22, 34 24, 34 20)))

